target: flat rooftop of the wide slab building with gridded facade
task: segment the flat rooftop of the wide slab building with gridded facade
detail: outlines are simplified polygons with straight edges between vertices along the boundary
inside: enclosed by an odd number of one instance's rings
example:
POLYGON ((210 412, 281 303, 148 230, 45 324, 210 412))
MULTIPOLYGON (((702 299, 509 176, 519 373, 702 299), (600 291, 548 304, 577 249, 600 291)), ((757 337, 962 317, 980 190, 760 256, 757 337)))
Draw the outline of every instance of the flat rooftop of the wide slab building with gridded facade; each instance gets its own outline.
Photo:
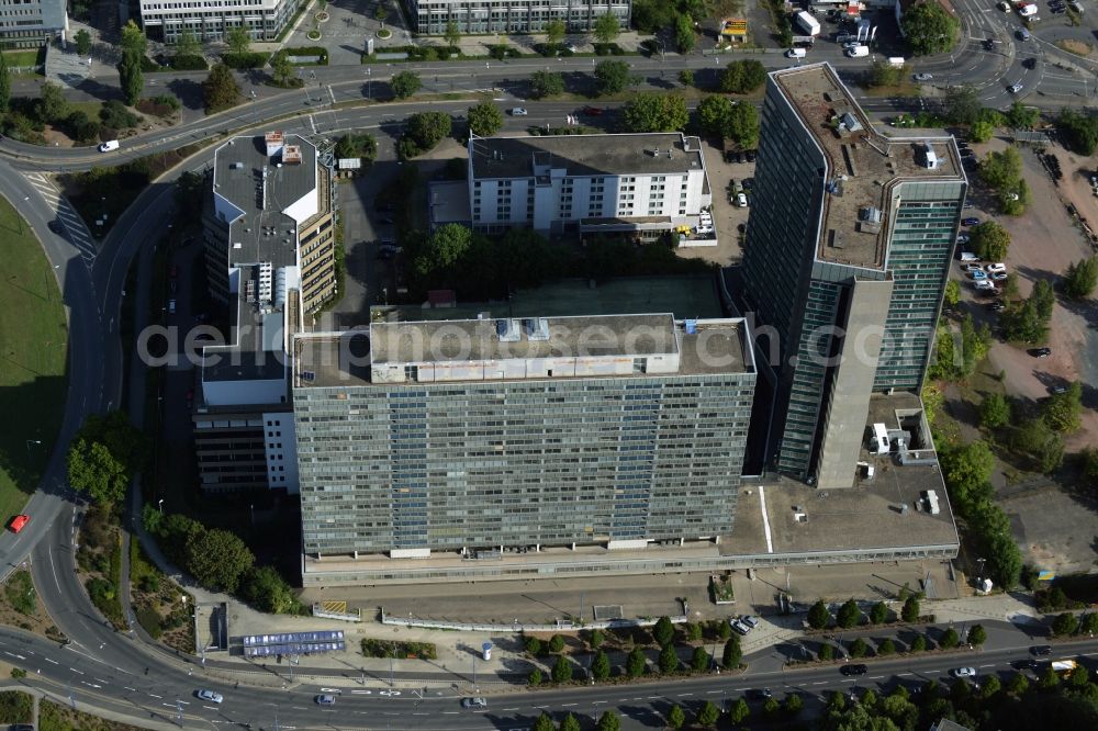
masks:
POLYGON ((692 333, 683 323, 675 323, 670 314, 548 319, 548 340, 530 341, 524 336, 520 340, 502 344, 496 337, 495 319, 380 323, 374 324, 371 331, 302 335, 294 339, 294 385, 299 389, 370 385, 371 362, 425 362, 423 359, 416 361, 424 356, 418 352, 418 342, 433 344, 432 355, 436 362, 580 353, 623 357, 677 353, 680 358, 679 370, 674 373, 578 378, 754 372, 752 356, 750 351, 746 355, 743 349, 743 324, 738 319, 699 320, 692 333), (379 335, 385 331, 393 337, 379 335))

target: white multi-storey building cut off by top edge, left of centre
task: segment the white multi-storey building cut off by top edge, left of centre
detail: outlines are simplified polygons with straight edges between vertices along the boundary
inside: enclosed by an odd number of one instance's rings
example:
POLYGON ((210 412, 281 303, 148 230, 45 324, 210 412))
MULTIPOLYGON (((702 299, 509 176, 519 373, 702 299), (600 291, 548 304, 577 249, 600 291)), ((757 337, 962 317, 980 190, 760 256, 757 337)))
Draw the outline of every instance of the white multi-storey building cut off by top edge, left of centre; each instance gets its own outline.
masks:
POLYGON ((199 41, 221 41, 244 25, 254 41, 274 41, 304 0, 141 0, 142 25, 154 41, 175 43, 183 31, 199 41))

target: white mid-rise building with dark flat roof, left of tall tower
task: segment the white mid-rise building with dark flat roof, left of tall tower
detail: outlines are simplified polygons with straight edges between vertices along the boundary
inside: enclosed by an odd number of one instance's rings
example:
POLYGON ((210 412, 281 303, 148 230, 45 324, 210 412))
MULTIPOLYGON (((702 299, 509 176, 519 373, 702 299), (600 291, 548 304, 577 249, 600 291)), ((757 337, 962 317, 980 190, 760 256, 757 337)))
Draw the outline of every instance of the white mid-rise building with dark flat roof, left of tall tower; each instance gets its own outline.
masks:
POLYGON ((470 222, 495 233, 632 232, 696 226, 713 204, 697 137, 682 133, 477 137, 470 222))

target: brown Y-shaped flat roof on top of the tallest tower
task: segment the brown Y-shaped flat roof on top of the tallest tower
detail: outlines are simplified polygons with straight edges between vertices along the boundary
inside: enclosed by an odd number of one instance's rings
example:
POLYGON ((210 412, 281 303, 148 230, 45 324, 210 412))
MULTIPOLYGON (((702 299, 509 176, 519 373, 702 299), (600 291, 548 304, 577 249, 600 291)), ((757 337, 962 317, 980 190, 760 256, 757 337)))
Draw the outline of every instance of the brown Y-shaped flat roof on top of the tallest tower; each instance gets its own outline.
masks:
POLYGON ((892 188, 911 181, 963 181, 953 138, 944 133, 901 138, 877 133, 830 64, 770 76, 828 158, 831 179, 826 181, 829 192, 817 258, 882 269, 892 188), (938 161, 934 168, 927 167, 928 149, 938 161), (878 224, 860 221, 867 207, 879 212, 878 224))

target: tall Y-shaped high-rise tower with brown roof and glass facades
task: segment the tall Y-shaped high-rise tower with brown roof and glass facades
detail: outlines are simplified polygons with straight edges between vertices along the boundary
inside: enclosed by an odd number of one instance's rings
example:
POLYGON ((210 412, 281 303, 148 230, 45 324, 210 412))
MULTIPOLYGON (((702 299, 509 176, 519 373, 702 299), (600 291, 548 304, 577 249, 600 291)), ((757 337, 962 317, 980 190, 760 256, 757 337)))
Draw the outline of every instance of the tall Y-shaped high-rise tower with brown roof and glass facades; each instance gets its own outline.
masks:
POLYGON ((768 464, 854 484, 871 394, 922 386, 966 188, 952 137, 877 133, 830 65, 770 75, 742 270, 768 464))

